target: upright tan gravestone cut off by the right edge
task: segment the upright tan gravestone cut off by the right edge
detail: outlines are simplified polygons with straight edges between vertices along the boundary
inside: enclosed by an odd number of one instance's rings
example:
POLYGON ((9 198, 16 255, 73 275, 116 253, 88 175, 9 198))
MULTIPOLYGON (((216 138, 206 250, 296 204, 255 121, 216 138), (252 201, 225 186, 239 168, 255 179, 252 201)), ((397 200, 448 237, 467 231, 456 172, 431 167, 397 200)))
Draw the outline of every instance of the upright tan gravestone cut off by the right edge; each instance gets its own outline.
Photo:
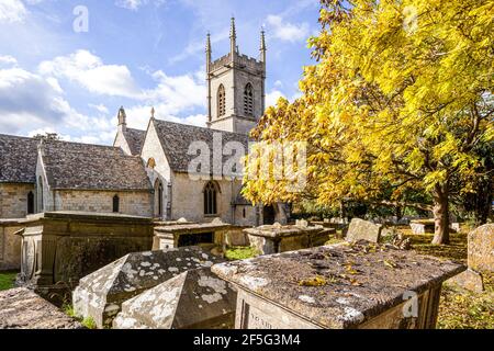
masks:
POLYGON ((494 272, 494 224, 483 225, 469 234, 469 268, 494 272))

